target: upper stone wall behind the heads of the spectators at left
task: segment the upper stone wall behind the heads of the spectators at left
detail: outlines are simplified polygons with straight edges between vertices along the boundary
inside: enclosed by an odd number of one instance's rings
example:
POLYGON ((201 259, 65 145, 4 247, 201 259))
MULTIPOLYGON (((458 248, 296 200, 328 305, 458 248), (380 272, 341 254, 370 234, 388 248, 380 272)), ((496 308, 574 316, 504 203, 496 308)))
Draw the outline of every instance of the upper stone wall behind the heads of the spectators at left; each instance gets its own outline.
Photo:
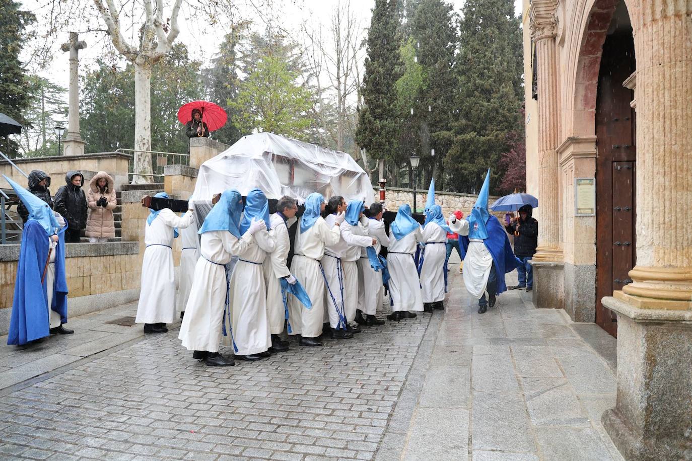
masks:
MULTIPOLYGON (((71 170, 82 171, 85 180, 91 179, 98 171, 105 171, 113 176, 116 189, 120 189, 121 185, 129 183, 127 171, 131 157, 126 153, 105 152, 89 153, 84 156, 17 158, 12 162, 15 162, 17 167, 26 174, 33 169, 46 171, 48 176, 51 176, 51 194, 55 194, 57 189, 65 184, 65 175, 71 170)), ((0 160, 0 173, 19 182, 20 185, 26 185, 26 178, 7 160, 0 160)), ((9 187, 9 185, 5 184, 2 187, 9 187)))

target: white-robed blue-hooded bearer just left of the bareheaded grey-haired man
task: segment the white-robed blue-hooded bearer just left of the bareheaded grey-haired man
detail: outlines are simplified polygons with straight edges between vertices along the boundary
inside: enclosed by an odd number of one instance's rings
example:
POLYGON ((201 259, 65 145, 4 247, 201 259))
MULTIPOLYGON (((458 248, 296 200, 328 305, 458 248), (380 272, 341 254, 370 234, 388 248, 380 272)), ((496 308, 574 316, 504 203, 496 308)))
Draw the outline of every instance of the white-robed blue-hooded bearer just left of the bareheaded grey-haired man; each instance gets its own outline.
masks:
MULTIPOLYGON (((248 192, 240 232, 243 234, 253 221, 269 222, 269 205, 260 189, 248 192)), ((266 285, 262 264, 267 254, 274 251, 273 232, 264 229, 255 232, 255 240, 238 255, 228 289, 230 310, 233 312, 233 335, 237 351, 235 357, 254 361, 268 357, 271 346, 269 321, 266 313, 266 285)))

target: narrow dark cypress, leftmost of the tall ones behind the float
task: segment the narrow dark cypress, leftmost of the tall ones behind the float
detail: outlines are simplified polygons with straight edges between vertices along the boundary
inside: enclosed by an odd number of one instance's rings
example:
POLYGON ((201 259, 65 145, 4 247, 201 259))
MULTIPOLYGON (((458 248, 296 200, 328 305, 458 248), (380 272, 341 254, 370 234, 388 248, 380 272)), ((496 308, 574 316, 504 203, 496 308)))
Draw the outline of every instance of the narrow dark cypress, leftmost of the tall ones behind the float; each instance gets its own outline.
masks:
POLYGON ((367 35, 367 57, 358 108, 356 142, 374 159, 395 160, 399 114, 395 84, 401 75, 397 41, 397 0, 375 0, 367 35))

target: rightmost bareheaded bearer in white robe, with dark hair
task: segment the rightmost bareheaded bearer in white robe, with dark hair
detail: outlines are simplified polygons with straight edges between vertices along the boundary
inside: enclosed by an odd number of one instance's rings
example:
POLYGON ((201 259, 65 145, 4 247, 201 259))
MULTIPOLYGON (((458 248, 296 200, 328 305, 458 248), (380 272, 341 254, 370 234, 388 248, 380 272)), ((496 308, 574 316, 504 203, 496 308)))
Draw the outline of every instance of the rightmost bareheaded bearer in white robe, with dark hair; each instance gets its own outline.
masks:
MULTIPOLYGON (((370 205, 370 218, 368 218, 367 234, 375 239, 374 250, 378 255, 382 247, 390 244, 389 236, 382 220, 383 207, 379 202, 370 205)), ((367 248, 363 248, 361 258, 358 259, 358 310, 356 322, 360 325, 377 326, 384 325, 384 321, 375 317, 377 308, 382 305, 384 299, 384 287, 382 285, 382 270, 375 272, 367 255, 367 248), (365 317, 363 317, 365 315, 365 317)))

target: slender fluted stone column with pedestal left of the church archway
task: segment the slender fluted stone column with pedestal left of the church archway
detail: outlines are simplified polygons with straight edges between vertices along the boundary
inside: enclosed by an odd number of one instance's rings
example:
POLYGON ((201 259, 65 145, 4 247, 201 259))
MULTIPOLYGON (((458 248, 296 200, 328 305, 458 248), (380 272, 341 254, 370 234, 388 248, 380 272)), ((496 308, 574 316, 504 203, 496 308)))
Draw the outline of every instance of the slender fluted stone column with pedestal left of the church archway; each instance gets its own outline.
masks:
POLYGON ((555 0, 531 3, 531 39, 536 46, 538 86, 538 248, 534 267, 534 304, 563 308, 563 252, 560 246, 560 180, 558 177, 558 77, 555 0))

